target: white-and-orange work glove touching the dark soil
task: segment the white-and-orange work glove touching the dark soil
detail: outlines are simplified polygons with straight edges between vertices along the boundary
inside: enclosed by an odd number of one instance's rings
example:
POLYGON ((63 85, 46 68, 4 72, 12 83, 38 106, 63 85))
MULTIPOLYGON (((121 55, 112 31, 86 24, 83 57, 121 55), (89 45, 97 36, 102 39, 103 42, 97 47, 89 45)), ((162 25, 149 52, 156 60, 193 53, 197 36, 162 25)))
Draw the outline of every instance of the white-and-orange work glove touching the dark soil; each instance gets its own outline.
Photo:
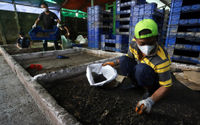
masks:
POLYGON ((154 101, 151 99, 151 97, 148 97, 147 99, 141 100, 137 103, 137 106, 135 108, 136 113, 142 114, 144 111, 147 113, 150 113, 151 107, 153 106, 154 101))

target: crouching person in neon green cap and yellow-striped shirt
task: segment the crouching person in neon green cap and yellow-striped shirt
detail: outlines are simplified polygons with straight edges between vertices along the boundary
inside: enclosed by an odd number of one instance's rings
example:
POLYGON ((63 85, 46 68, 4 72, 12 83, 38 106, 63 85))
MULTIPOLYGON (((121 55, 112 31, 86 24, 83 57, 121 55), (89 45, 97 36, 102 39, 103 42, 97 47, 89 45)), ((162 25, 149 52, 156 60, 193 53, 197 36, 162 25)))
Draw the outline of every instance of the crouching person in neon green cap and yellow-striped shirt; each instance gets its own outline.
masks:
POLYGON ((144 19, 135 26, 135 36, 127 56, 103 65, 120 65, 121 75, 130 78, 135 86, 145 88, 144 100, 136 105, 136 112, 149 113, 155 102, 166 95, 172 86, 170 58, 158 45, 158 27, 152 19, 144 19))

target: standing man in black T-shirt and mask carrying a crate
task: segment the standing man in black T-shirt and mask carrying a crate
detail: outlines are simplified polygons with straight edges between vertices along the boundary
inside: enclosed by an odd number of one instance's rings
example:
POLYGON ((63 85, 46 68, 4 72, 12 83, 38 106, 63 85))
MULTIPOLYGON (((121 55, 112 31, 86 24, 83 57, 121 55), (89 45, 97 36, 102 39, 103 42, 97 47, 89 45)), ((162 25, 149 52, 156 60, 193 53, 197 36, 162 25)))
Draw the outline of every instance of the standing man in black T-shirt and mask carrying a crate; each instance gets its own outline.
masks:
MULTIPOLYGON (((59 27, 60 20, 55 13, 49 11, 48 5, 46 3, 42 3, 40 7, 43 9, 44 12, 39 15, 32 28, 35 28, 39 21, 42 21, 44 29, 53 29, 53 27, 55 26, 55 21, 57 22, 57 27, 59 27)), ((57 41, 54 41, 54 47, 55 49, 58 49, 57 41)), ((47 40, 43 40, 43 49, 44 51, 47 51, 47 40)))

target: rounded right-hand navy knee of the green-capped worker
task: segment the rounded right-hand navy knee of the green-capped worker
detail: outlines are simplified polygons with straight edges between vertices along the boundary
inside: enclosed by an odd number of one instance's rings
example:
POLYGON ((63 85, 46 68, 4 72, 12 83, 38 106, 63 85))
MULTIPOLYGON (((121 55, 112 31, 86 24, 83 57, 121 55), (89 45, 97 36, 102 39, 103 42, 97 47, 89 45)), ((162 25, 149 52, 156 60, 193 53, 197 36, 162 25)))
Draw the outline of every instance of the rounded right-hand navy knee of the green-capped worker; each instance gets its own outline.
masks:
POLYGON ((139 86, 152 86, 156 82, 155 71, 146 64, 135 66, 135 79, 139 86))

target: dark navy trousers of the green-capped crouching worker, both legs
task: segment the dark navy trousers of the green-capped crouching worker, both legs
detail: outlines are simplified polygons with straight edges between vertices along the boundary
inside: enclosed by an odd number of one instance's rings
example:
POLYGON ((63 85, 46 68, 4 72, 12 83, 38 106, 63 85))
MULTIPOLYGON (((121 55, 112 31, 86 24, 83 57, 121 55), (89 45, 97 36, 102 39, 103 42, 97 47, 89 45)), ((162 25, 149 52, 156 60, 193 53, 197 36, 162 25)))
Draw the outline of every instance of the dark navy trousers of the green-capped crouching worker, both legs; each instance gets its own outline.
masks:
POLYGON ((120 58, 121 75, 128 76, 138 86, 151 90, 158 88, 158 75, 147 64, 137 64, 137 62, 127 56, 120 58))

